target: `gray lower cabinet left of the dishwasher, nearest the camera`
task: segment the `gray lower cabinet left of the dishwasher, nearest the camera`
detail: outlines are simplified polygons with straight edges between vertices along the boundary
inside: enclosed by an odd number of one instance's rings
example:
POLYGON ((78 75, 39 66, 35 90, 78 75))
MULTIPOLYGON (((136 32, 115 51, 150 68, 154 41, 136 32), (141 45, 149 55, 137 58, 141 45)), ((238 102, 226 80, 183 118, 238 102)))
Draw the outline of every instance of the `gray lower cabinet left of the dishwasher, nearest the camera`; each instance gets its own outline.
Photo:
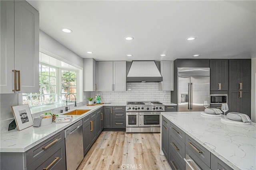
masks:
POLYGON ((61 131, 26 152, 1 152, 1 169, 66 169, 64 138, 61 131))

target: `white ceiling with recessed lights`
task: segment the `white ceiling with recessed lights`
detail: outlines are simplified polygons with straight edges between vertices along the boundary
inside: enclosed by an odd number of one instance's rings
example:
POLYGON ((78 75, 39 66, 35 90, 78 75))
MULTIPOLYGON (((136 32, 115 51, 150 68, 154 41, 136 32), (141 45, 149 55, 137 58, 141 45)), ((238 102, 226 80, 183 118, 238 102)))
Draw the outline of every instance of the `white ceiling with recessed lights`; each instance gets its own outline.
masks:
POLYGON ((195 58, 194 54, 204 59, 256 57, 255 0, 28 2, 40 13, 40 29, 83 58, 160 61, 195 58), (63 27, 73 32, 64 33, 63 27), (134 40, 127 41, 126 36, 134 40), (197 39, 186 41, 190 36, 197 39))

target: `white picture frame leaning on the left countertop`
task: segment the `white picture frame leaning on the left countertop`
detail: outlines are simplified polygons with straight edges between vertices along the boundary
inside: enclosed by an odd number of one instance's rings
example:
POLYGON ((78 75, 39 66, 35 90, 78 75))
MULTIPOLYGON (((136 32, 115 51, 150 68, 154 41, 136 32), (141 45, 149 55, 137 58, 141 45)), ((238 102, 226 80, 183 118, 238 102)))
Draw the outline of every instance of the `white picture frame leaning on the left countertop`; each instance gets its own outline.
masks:
POLYGON ((33 125, 34 122, 28 104, 12 106, 12 113, 14 115, 18 131, 33 125))

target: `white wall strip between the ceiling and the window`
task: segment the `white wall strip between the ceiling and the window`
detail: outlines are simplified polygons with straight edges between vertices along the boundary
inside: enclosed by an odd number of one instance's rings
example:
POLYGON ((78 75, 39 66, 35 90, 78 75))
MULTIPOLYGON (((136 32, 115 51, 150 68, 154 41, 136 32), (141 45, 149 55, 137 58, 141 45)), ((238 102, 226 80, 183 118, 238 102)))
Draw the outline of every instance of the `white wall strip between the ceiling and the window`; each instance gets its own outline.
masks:
POLYGON ((40 30, 39 41, 40 52, 48 52, 47 55, 59 59, 60 61, 76 67, 83 67, 82 57, 78 56, 42 30, 40 30))

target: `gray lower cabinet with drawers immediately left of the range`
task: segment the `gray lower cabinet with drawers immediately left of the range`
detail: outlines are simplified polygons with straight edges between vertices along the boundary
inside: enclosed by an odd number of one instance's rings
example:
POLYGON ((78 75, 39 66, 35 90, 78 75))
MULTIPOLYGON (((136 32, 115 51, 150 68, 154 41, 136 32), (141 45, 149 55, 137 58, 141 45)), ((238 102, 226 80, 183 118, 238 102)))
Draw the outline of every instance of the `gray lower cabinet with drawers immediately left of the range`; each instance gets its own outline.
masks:
POLYGON ((104 106, 104 129, 125 129, 125 106, 104 106))

